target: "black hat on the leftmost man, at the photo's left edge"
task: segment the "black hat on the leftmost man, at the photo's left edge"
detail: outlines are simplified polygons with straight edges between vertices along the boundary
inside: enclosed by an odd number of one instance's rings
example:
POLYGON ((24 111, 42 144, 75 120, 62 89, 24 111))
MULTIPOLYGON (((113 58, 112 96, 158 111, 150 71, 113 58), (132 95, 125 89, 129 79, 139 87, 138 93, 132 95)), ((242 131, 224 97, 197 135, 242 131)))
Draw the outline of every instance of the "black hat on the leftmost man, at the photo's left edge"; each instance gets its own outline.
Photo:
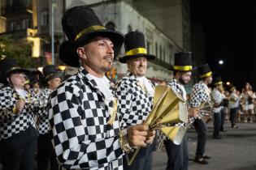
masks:
POLYGON ((13 58, 5 58, 0 60, 0 71, 2 72, 2 79, 7 79, 11 74, 24 73, 29 74, 30 71, 21 68, 13 58))

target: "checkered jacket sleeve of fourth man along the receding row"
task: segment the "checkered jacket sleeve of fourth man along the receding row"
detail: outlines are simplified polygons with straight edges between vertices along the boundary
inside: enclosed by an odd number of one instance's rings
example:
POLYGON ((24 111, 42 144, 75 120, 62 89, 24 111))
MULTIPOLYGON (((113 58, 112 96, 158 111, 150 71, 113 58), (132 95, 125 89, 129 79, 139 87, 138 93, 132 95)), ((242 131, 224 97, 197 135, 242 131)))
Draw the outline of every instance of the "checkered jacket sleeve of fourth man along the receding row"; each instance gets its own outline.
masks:
POLYGON ((195 84, 193 87, 191 98, 189 100, 189 104, 193 108, 199 107, 202 102, 205 102, 208 100, 208 95, 206 94, 206 91, 202 86, 200 86, 199 83, 195 84))

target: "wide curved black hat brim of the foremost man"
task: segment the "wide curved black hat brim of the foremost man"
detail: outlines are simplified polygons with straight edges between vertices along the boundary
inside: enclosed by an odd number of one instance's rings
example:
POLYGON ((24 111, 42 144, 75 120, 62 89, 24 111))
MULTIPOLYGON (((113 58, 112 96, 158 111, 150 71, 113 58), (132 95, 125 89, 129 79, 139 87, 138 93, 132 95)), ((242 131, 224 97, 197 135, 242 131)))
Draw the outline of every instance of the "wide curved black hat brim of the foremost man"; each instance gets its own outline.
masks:
POLYGON ((89 32, 85 36, 81 36, 78 40, 66 40, 60 46, 59 49, 59 58, 67 64, 67 66, 79 67, 79 57, 76 53, 76 49, 79 46, 86 45, 89 41, 93 40, 94 38, 102 36, 109 38, 114 44, 114 57, 116 57, 124 43, 124 35, 115 32, 112 30, 96 30, 94 32, 89 32))

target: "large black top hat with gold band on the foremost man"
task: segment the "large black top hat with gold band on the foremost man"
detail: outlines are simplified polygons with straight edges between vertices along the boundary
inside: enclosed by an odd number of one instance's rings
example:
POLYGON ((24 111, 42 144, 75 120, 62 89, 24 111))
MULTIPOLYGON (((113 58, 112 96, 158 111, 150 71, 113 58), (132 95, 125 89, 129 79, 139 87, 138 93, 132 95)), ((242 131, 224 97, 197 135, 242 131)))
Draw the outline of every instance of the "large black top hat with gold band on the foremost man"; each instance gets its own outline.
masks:
POLYGON ((124 35, 103 27, 94 11, 87 6, 75 6, 67 10, 63 15, 62 25, 68 40, 60 46, 59 57, 67 66, 79 67, 76 49, 86 45, 97 36, 111 39, 114 44, 115 57, 124 43, 124 35))

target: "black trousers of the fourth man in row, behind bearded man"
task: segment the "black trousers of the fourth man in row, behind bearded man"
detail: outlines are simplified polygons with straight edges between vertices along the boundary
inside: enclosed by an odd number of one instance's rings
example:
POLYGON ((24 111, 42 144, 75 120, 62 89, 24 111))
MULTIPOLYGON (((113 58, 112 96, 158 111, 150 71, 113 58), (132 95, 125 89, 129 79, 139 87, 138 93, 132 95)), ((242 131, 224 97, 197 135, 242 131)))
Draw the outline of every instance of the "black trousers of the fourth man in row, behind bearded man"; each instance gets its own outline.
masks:
POLYGON ((207 127, 206 124, 202 121, 202 119, 196 119, 193 122, 197 132, 197 151, 196 156, 203 156, 206 151, 206 140, 207 140, 207 127))

